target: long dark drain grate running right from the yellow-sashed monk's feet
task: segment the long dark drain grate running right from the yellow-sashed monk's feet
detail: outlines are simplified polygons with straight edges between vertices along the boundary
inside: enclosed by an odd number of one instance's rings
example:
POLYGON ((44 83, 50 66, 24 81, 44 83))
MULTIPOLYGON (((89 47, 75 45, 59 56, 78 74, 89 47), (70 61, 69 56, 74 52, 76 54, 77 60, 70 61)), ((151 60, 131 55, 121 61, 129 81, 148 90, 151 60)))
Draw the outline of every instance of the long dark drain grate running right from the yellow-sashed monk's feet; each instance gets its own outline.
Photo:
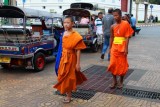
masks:
POLYGON ((149 98, 154 100, 160 100, 160 93, 157 93, 157 92, 124 88, 122 90, 122 94, 127 96, 139 97, 139 98, 149 98))

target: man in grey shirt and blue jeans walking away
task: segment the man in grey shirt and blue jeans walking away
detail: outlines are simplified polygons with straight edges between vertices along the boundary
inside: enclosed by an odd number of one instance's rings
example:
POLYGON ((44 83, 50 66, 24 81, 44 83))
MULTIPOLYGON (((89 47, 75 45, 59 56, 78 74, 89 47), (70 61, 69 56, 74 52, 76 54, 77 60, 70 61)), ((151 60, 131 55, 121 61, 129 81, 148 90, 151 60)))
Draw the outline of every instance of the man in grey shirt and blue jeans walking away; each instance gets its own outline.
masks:
MULTIPOLYGON (((108 14, 106 14, 102 19, 104 43, 101 53, 101 59, 104 59, 107 48, 109 47, 110 28, 114 24, 114 17, 112 15, 112 12, 113 8, 109 8, 108 14)), ((108 60, 109 59, 110 59, 110 54, 108 54, 108 60)))

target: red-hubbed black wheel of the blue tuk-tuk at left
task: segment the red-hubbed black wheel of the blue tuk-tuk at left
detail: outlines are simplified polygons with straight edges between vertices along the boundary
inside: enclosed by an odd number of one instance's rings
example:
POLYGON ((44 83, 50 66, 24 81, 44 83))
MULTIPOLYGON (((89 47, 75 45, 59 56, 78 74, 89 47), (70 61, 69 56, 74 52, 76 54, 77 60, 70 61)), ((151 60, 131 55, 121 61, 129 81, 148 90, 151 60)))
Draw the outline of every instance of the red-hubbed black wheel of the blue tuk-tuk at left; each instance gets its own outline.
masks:
POLYGON ((34 60, 33 60, 33 63, 34 63, 34 70, 35 71, 42 71, 44 69, 45 63, 46 63, 45 55, 41 52, 36 53, 34 60))

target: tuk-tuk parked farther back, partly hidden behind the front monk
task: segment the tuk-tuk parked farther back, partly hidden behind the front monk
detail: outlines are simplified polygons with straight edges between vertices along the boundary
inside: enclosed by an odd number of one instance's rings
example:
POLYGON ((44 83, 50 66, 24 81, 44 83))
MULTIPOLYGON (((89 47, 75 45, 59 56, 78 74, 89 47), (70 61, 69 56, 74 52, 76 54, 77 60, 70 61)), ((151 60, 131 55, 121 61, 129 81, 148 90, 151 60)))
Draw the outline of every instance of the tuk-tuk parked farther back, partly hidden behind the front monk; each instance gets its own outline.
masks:
MULTIPOLYGON (((79 4, 79 3, 78 3, 79 4)), ((76 5, 78 5, 76 3, 76 5)), ((75 18, 75 25, 74 29, 78 31, 82 36, 84 43, 86 44, 87 48, 90 48, 93 52, 97 52, 99 45, 97 43, 97 35, 94 30, 94 20, 92 20, 92 16, 98 16, 97 11, 84 9, 87 5, 87 3, 83 3, 83 8, 72 8, 74 7, 74 4, 71 4, 71 8, 64 10, 63 15, 70 15, 75 18), (88 24, 80 24, 79 20, 77 19, 81 17, 88 17, 89 23, 88 24)), ((89 5, 90 6, 90 5, 89 5)))

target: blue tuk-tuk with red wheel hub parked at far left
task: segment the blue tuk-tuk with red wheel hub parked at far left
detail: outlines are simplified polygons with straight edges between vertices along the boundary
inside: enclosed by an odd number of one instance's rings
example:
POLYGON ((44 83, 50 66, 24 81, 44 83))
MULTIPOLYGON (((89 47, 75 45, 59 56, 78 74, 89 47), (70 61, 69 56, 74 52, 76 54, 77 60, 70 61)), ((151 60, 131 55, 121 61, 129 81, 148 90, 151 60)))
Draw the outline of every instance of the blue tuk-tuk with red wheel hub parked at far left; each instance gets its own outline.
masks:
POLYGON ((0 65, 3 68, 22 66, 36 71, 43 70, 46 57, 55 55, 54 52, 57 46, 56 29, 53 23, 46 26, 45 19, 62 18, 62 16, 34 9, 1 6, 0 17, 23 19, 23 26, 1 26, 0 65), (27 19, 38 18, 41 20, 41 24, 31 24, 29 27, 31 29, 26 27, 27 19))

